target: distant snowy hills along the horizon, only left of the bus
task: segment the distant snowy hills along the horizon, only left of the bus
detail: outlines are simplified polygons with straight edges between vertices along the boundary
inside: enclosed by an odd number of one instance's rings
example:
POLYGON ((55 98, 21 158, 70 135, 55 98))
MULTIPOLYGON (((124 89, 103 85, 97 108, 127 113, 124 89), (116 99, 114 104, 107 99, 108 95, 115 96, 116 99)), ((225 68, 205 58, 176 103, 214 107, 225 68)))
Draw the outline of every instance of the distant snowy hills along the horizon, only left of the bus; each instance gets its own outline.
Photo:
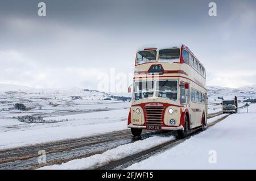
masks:
POLYGON ((71 89, 33 89, 31 87, 0 84, 0 102, 42 102, 46 100, 64 102, 69 100, 127 100, 126 96, 112 95, 97 90, 71 89))

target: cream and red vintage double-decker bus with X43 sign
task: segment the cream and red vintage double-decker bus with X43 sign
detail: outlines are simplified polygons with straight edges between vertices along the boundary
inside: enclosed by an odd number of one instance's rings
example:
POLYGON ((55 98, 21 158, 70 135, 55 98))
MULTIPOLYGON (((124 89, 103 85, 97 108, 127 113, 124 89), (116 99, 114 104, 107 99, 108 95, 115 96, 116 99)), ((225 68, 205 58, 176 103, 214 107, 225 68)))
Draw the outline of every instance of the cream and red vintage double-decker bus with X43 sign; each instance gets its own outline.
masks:
POLYGON ((185 45, 137 52, 127 127, 177 131, 180 138, 207 125, 205 68, 185 45))

